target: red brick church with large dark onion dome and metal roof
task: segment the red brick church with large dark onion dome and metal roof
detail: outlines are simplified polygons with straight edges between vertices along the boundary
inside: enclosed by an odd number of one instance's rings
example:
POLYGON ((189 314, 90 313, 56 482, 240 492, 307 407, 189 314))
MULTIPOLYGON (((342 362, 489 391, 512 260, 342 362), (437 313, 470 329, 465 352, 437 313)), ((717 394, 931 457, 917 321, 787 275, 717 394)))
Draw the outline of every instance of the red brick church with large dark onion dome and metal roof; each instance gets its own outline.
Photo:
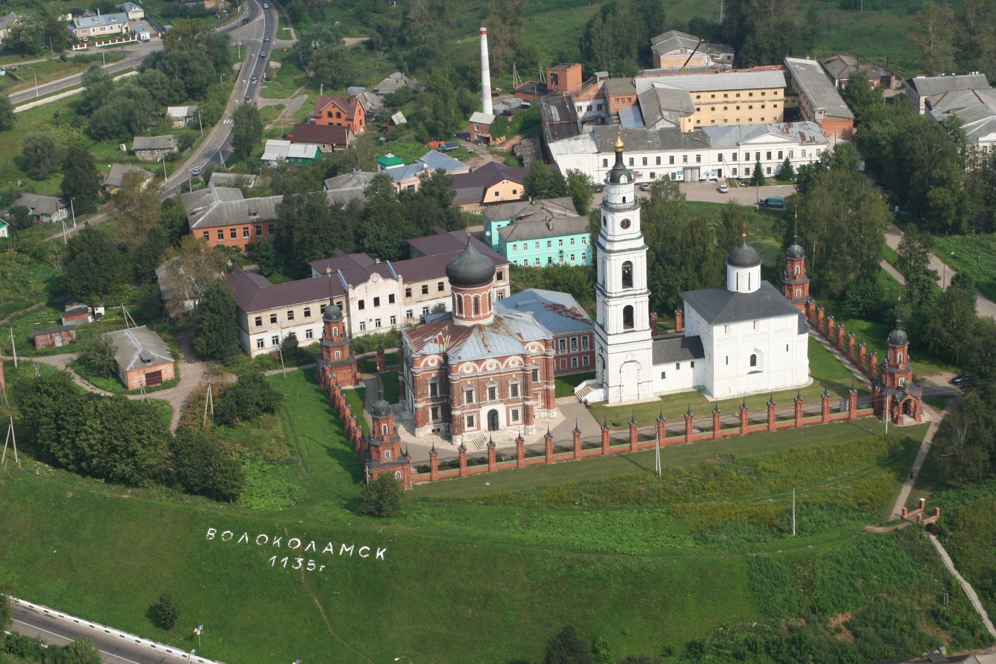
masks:
POLYGON ((524 311, 496 312, 495 265, 467 242, 446 265, 452 312, 398 332, 401 406, 414 433, 454 445, 489 431, 535 433, 554 417, 553 334, 524 311))

